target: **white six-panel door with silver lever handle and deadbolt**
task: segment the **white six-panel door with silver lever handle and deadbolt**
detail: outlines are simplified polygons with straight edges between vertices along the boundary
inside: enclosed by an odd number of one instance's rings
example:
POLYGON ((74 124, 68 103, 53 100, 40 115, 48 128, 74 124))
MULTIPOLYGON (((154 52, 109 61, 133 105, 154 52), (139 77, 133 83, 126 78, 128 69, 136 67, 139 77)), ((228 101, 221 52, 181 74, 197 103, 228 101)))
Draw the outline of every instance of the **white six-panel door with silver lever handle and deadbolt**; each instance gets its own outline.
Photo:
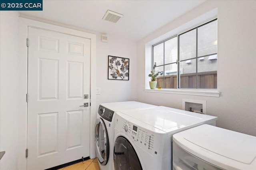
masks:
POLYGON ((27 169, 43 170, 90 154, 90 39, 33 27, 28 38, 27 169))

